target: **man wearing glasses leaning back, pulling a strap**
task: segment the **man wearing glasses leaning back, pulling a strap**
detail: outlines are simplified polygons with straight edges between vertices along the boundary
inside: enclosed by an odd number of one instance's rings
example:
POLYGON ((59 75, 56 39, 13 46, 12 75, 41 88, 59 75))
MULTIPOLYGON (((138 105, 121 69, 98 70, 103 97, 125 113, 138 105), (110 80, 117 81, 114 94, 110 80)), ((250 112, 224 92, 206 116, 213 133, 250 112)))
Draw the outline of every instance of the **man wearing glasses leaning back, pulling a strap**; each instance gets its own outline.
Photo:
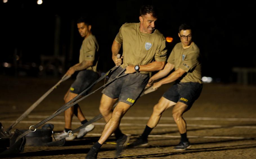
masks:
POLYGON ((175 84, 163 94, 159 102, 154 106, 153 113, 147 122, 144 132, 129 147, 147 145, 148 135, 158 124, 162 113, 170 107, 173 107, 172 116, 181 135, 181 141, 174 149, 185 150, 191 146, 187 138, 186 121, 182 115, 191 108, 201 93, 201 63, 199 61, 199 48, 192 42, 191 28, 186 24, 180 25, 178 36, 181 43, 174 46, 164 69, 152 76, 147 86, 152 85, 155 80, 165 77, 173 69, 175 71, 169 76, 154 83, 153 88, 159 88, 163 84, 174 81, 175 84))

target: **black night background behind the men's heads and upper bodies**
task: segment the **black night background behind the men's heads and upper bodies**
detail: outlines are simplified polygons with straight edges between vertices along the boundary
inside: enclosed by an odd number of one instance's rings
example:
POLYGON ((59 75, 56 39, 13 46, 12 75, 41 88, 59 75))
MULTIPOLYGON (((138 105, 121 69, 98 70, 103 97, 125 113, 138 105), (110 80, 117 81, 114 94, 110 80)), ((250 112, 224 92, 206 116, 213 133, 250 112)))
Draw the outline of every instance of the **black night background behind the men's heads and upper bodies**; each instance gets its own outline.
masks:
POLYGON ((114 65, 111 45, 119 28, 125 22, 139 22, 143 4, 156 6, 156 28, 165 37, 174 38, 167 43, 169 53, 180 42, 179 25, 186 22, 192 26, 193 41, 202 55, 203 76, 217 82, 236 82, 233 67, 256 67, 255 1, 43 0, 38 5, 37 0, 8 0, 0 2, 0 74, 63 75, 78 63, 83 40, 76 23, 80 15, 93 20, 93 33, 100 45, 99 69, 105 72, 114 65), (62 56, 65 60, 47 63, 42 62, 42 56, 62 56), (5 62, 8 67, 4 67, 5 62), (40 65, 44 66, 41 71, 40 65), (52 67, 57 68, 57 74, 52 67))

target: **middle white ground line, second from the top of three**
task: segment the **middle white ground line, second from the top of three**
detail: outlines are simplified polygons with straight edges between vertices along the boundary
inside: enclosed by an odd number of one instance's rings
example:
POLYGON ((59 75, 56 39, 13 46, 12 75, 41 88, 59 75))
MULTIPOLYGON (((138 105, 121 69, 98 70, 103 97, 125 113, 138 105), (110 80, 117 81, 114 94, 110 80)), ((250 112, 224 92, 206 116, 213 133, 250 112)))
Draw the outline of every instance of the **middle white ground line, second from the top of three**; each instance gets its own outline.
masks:
MULTIPOLYGON (((2 123, 14 123, 15 121, 8 121, 8 120, 2 120, 2 123)), ((20 121, 20 123, 26 123, 26 124, 36 124, 41 121, 20 121)), ((51 124, 60 124, 64 125, 65 122, 62 121, 48 121, 46 123, 51 123, 51 124)), ((72 122, 73 125, 81 125, 80 122, 72 122)), ((93 123, 94 125, 105 125, 106 123, 93 123)), ((136 123, 121 123, 121 126, 143 126, 145 127, 145 124, 136 124, 136 123)), ((251 128, 251 129, 256 129, 256 126, 229 126, 229 125, 201 125, 201 124, 187 124, 188 127, 205 127, 205 128, 224 128, 224 127, 229 127, 229 128, 251 128)), ((158 124, 157 127, 177 127, 176 124, 158 124)))

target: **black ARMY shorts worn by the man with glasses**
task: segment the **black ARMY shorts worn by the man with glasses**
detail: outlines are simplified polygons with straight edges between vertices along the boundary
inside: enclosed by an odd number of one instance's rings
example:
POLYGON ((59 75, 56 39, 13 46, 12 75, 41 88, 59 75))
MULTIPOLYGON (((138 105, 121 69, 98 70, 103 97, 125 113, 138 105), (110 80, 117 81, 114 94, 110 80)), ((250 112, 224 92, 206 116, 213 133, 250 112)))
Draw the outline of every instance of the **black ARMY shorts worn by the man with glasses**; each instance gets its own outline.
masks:
POLYGON ((175 103, 182 102, 188 105, 188 109, 191 108, 195 100, 201 94, 203 85, 195 82, 180 82, 174 84, 167 92, 163 94, 168 100, 175 103))

